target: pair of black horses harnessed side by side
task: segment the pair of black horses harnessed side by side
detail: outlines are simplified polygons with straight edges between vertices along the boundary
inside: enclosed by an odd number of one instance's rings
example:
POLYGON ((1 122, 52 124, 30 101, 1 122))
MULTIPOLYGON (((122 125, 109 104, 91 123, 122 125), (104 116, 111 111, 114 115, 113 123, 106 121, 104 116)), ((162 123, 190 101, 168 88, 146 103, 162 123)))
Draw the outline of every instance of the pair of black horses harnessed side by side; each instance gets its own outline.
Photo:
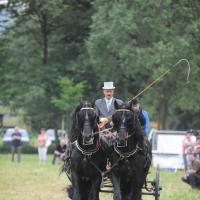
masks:
POLYGON ((151 163, 151 149, 132 103, 114 102, 112 116, 116 138, 112 145, 98 134, 95 99, 82 101, 71 114, 70 155, 67 151, 63 169, 68 170, 72 185, 68 196, 73 200, 99 200, 99 191, 111 162, 110 175, 115 200, 140 200, 141 189, 151 163), (70 168, 70 170, 69 170, 70 168))

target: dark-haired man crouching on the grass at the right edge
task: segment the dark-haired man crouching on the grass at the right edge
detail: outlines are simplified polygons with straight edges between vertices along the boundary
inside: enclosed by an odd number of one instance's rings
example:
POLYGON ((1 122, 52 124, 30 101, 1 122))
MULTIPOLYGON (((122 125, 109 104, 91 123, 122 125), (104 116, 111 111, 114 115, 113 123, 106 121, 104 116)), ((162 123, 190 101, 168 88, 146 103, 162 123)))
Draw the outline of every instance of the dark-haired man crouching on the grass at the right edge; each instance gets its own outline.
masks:
POLYGON ((200 162, 195 160, 194 154, 189 154, 191 168, 186 171, 182 181, 191 185, 193 189, 200 189, 200 162))

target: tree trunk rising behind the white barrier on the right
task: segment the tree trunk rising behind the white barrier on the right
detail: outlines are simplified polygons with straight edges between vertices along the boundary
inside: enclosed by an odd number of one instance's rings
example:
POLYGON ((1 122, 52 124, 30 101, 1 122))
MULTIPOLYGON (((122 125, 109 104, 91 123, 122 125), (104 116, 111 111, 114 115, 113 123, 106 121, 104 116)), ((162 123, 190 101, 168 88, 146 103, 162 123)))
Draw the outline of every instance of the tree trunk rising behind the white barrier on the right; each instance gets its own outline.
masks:
POLYGON ((164 96, 159 107, 159 118, 158 118, 159 130, 166 130, 167 116, 168 116, 168 100, 164 96))

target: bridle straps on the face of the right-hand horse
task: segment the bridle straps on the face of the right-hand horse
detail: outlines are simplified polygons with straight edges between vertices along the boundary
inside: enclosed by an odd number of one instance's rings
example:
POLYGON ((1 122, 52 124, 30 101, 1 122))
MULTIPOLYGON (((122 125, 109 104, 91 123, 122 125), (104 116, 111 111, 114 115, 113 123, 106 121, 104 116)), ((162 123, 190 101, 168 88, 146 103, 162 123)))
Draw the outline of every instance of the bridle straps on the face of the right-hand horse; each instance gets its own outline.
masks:
MULTIPOLYGON (((123 112, 120 127, 116 130, 116 133, 117 133, 117 137, 116 137, 117 147, 126 147, 128 138, 131 137, 134 134, 134 132, 133 132, 130 135, 128 135, 128 129, 125 126, 125 122, 126 122, 125 112, 130 112, 130 110, 128 110, 128 109, 118 109, 117 112, 123 112), (120 129, 122 129, 122 130, 124 129, 126 131, 125 145, 124 146, 120 146, 119 143, 118 143, 119 142, 118 131, 120 129)), ((135 122, 135 115, 134 115, 134 122, 135 122)))

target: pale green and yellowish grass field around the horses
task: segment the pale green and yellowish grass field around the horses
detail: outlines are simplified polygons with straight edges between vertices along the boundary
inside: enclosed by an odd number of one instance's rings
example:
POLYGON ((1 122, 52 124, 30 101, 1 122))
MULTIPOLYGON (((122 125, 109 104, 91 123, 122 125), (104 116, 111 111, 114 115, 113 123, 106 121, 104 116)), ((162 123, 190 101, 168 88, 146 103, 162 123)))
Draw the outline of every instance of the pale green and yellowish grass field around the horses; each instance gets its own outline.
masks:
MULTIPOLYGON (((60 165, 51 165, 52 156, 47 156, 46 165, 38 164, 37 155, 22 155, 21 163, 11 162, 11 155, 0 155, 0 199, 43 200, 68 199, 63 188, 69 184, 65 174, 58 177, 60 165)), ((156 169, 148 175, 155 178, 156 169)), ((160 171, 161 200, 199 200, 200 190, 193 190, 181 182, 183 172, 160 171)), ((100 194, 101 200, 112 199, 111 194, 100 194)), ((144 196, 144 200, 155 199, 144 196)))

